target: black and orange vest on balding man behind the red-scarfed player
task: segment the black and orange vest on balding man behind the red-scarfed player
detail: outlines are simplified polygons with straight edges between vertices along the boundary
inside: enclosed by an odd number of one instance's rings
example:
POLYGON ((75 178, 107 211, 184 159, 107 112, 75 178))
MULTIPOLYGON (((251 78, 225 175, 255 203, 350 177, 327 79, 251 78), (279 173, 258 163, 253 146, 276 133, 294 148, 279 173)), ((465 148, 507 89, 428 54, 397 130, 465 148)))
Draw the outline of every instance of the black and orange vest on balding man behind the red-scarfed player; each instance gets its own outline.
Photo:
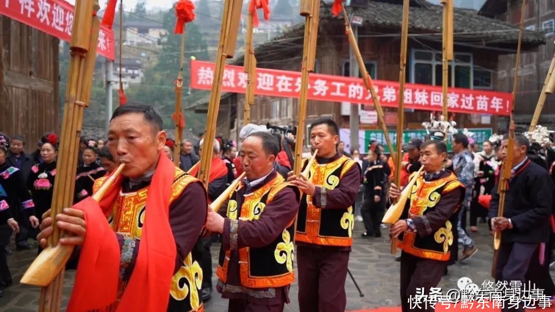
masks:
MULTIPOLYGON (((238 196, 241 185, 232 192, 228 201, 227 217, 232 220, 254 221, 259 219, 266 205, 268 205, 285 187, 292 187, 286 183, 281 175, 276 177, 258 190, 245 195, 243 204, 238 207, 238 196)), ((239 276, 241 286, 247 288, 276 288, 291 284, 295 280, 293 272, 294 253, 294 219, 283 230, 274 242, 259 248, 239 248, 239 276)), ((220 249, 218 261, 218 278, 226 283, 228 279, 230 250, 220 249)))

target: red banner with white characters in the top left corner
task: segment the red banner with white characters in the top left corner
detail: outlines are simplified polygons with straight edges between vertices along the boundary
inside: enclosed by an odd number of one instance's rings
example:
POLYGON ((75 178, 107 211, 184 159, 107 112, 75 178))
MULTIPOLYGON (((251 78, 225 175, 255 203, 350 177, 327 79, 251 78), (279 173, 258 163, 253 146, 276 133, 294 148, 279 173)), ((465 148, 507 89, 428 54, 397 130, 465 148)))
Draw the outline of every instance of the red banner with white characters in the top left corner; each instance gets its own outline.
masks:
MULTIPOLYGON (((2 0, 0 15, 69 42, 73 29, 74 7, 64 0, 2 0)), ((97 53, 115 58, 114 31, 100 25, 97 53)))

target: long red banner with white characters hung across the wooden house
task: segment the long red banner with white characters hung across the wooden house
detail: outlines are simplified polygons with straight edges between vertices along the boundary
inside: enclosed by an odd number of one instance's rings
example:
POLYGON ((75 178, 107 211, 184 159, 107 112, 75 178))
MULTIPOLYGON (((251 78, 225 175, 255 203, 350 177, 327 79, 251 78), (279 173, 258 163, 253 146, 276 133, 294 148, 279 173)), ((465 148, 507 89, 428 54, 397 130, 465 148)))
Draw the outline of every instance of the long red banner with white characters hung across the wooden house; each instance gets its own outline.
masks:
MULTIPOLYGON (((191 61, 191 88, 210 90, 214 79, 214 63, 191 61)), ((384 107, 398 106, 399 86, 396 81, 374 80, 380 103, 384 107)), ((299 98, 301 73, 276 69, 256 69, 257 95, 299 98)), ((243 67, 226 65, 222 91, 245 93, 246 73, 243 67)), ((508 116, 511 113, 511 93, 449 88, 447 105, 450 112, 508 116)), ((310 74, 310 100, 373 104, 362 79, 344 76, 310 74)), ((441 111, 441 87, 405 84, 405 108, 441 111)))

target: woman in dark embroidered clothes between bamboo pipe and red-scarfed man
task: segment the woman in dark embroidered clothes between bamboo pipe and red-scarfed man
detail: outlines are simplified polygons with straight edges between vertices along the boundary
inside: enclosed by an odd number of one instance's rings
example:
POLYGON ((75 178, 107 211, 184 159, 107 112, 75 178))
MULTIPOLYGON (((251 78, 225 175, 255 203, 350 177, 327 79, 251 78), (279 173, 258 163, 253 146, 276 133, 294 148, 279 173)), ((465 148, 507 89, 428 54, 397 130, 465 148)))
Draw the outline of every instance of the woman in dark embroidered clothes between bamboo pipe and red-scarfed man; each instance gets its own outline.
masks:
POLYGON ((77 167, 74 203, 92 195, 94 180, 105 175, 106 170, 98 165, 97 157, 97 142, 89 140, 82 152, 83 163, 77 167))

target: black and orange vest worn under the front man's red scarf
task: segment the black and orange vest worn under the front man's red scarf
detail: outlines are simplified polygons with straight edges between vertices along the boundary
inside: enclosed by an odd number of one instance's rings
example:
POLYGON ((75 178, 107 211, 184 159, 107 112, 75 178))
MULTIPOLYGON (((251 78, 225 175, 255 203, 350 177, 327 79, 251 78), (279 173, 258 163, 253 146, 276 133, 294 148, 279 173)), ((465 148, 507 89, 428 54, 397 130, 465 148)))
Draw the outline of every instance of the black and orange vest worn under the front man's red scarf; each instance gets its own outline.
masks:
MULTIPOLYGON (((94 192, 98 190, 107 178, 101 177, 95 181, 94 192)), ((169 203, 171 204, 178 198, 190 183, 196 181, 198 181, 196 178, 175 167, 169 203)), ((110 226, 116 233, 140 240, 143 233, 147 196, 148 187, 136 192, 120 192, 114 203, 112 215, 108 218, 110 226)), ((201 255, 200 245, 197 244, 189 255, 185 257, 178 272, 171 279, 168 311, 204 311, 203 303, 200 299, 200 288, 203 282, 203 271, 200 267, 201 255)), ((174 262, 171 265, 174 265, 174 262)), ((123 294, 124 289, 125 284, 122 283, 120 277, 118 298, 123 294)))

